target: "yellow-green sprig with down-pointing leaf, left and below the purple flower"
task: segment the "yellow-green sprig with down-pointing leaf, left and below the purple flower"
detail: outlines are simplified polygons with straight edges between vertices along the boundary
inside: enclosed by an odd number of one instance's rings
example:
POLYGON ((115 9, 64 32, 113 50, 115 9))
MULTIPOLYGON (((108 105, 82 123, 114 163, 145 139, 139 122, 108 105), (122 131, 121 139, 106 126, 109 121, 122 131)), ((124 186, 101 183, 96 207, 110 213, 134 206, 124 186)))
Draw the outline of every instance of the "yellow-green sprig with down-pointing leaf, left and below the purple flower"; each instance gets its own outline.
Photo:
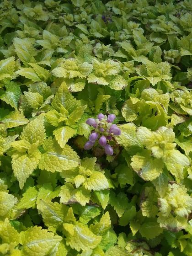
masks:
POLYGON ((79 164, 77 153, 69 145, 61 149, 51 137, 45 139, 43 122, 44 114, 41 114, 27 124, 20 140, 12 143, 11 163, 20 188, 37 166, 41 170, 55 172, 68 170, 79 164), (39 147, 42 145, 43 150, 40 152, 39 147))

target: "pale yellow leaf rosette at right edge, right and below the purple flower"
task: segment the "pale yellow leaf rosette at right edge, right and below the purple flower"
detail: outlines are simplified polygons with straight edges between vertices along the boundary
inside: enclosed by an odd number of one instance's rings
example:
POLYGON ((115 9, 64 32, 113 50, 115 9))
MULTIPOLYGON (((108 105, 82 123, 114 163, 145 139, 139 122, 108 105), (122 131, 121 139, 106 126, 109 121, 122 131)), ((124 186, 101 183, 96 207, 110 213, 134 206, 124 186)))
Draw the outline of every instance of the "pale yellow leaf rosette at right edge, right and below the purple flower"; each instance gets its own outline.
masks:
POLYGON ((175 149, 175 133, 171 128, 160 127, 151 132, 148 128, 139 127, 136 134, 139 143, 146 148, 132 157, 131 166, 139 176, 147 181, 155 180, 166 166, 177 180, 183 179, 183 169, 190 161, 175 149))

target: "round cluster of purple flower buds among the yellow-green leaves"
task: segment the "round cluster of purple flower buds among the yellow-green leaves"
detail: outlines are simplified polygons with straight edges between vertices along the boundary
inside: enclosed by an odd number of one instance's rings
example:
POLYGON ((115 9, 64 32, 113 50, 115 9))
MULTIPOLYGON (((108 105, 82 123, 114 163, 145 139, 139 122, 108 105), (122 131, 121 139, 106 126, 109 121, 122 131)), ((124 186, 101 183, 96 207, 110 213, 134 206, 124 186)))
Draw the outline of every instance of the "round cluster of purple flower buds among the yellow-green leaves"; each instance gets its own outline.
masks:
POLYGON ((93 126, 95 129, 90 134, 89 141, 85 143, 84 149, 91 149, 98 139, 98 143, 105 149, 105 153, 107 155, 113 155, 112 146, 107 142, 112 140, 114 135, 121 134, 121 130, 117 125, 112 124, 114 119, 114 114, 105 116, 102 113, 98 114, 96 119, 88 118, 86 123, 93 126))

